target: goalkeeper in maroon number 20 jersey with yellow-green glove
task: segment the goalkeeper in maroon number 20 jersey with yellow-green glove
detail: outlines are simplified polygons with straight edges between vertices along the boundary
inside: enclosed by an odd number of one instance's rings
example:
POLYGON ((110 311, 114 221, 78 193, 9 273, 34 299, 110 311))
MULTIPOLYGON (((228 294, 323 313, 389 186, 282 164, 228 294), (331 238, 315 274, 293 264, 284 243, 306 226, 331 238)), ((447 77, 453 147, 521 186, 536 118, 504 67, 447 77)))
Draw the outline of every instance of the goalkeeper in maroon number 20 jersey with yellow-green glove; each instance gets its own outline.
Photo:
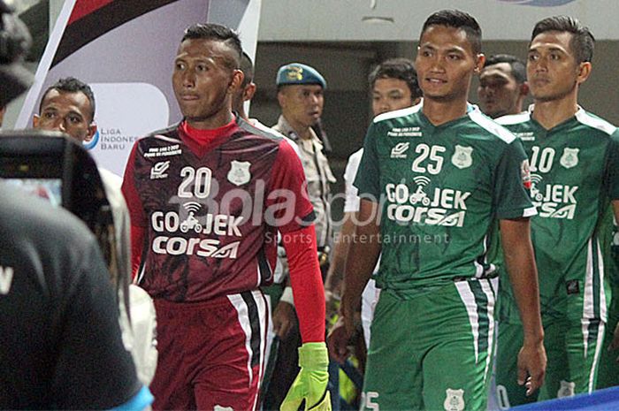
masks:
POLYGON ((155 409, 256 409, 277 235, 290 265, 303 344, 282 409, 330 409, 325 298, 301 162, 281 137, 234 115, 241 42, 188 27, 172 87, 184 118, 137 141, 123 191, 134 267, 155 300, 155 409))

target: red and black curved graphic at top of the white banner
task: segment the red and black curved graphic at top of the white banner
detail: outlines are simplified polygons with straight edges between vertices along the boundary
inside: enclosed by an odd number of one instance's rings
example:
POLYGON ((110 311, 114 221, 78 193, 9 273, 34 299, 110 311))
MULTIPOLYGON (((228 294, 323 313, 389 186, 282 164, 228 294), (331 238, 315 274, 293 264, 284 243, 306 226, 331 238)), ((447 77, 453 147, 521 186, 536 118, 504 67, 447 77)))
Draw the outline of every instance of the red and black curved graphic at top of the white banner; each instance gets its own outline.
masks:
MULTIPOLYGON (((178 0, 78 0, 51 66, 131 19, 178 0)), ((122 47, 122 46, 120 46, 122 47)))

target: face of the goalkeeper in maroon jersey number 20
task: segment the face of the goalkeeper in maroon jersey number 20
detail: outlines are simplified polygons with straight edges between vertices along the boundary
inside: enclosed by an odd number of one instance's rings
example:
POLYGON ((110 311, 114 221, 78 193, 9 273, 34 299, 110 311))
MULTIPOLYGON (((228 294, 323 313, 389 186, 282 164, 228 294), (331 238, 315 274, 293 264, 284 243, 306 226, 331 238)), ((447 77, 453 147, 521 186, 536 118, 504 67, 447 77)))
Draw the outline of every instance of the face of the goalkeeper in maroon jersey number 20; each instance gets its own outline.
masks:
POLYGON ((190 126, 214 128, 229 120, 232 95, 242 81, 233 53, 216 40, 188 39, 180 44, 172 88, 190 126))

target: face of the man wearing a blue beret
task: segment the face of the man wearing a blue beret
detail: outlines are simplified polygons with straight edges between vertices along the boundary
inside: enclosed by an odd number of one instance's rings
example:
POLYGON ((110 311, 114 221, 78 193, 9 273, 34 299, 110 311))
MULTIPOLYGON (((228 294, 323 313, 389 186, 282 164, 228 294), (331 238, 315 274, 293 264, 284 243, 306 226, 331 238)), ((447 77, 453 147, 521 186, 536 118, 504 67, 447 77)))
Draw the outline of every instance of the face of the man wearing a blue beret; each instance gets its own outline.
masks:
POLYGON ((318 84, 285 86, 279 90, 279 104, 289 123, 314 126, 323 114, 323 88, 318 84))

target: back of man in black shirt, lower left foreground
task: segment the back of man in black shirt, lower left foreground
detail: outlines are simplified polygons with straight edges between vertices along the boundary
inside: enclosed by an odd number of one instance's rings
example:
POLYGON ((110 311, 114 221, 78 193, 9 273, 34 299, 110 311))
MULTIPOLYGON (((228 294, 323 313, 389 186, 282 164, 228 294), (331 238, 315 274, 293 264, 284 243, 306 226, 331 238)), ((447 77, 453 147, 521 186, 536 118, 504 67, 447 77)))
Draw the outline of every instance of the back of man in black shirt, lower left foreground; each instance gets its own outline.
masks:
POLYGON ((142 409, 93 235, 0 183, 0 408, 142 409))

